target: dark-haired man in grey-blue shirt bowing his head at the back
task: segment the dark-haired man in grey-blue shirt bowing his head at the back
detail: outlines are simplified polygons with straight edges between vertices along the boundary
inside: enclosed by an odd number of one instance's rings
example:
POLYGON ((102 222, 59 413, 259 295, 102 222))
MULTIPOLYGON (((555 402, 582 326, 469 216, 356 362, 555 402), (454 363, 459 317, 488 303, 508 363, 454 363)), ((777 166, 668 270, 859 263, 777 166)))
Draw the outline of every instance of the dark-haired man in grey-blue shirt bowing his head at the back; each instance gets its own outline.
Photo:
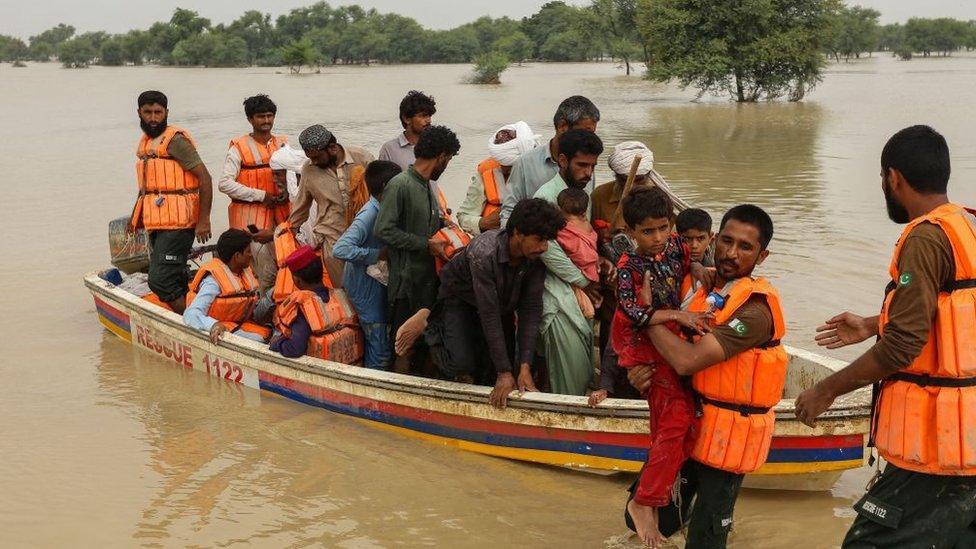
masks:
POLYGON ((596 132, 600 121, 600 109, 582 95, 563 99, 552 117, 556 135, 543 147, 526 152, 512 165, 512 174, 506 182, 508 192, 502 200, 501 225, 505 225, 512 209, 559 173, 559 137, 569 130, 596 132))

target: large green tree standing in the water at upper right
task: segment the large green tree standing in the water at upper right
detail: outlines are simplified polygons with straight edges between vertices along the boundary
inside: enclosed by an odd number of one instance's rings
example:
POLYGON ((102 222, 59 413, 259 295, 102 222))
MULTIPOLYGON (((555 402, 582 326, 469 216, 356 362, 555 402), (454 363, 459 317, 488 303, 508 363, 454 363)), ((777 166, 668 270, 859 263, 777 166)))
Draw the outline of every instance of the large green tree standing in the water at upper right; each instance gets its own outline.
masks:
POLYGON ((650 79, 738 102, 799 101, 822 78, 838 0, 642 0, 650 79))

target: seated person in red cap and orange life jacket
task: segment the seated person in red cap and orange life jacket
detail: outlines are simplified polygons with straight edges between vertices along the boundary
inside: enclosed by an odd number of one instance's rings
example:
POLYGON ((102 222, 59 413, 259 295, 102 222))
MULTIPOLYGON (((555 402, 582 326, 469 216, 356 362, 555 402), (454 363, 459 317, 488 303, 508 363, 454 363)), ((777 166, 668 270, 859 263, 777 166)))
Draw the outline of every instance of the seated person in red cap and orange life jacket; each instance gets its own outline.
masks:
POLYGON ((275 309, 271 350, 288 358, 315 356, 356 364, 363 358, 358 319, 343 290, 322 283, 322 260, 311 246, 286 259, 296 290, 275 309))

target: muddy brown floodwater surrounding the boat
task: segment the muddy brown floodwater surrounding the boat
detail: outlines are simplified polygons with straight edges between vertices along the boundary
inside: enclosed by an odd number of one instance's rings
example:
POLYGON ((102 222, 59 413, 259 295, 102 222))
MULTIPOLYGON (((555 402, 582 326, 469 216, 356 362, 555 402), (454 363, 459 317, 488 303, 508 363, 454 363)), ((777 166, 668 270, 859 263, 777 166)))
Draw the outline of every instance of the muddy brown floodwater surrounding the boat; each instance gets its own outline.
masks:
MULTIPOLYGON (((940 130, 950 192, 976 203, 976 58, 832 65, 801 104, 693 103, 690 91, 611 64, 513 67, 495 87, 461 84, 467 70, 0 66, 3 546, 630 543, 627 478, 403 438, 172 368, 103 331, 81 277, 107 264, 106 224, 131 208, 144 89, 166 91, 171 122, 193 133, 212 173, 247 131, 241 101, 252 93, 277 101, 278 130, 293 139, 322 122, 376 151, 399 131, 400 97, 426 90, 435 121, 462 143, 442 179, 455 205, 496 127, 524 119, 548 138, 556 104, 584 94, 602 110, 606 144, 647 142, 658 171, 716 219, 740 202, 768 209, 776 236, 760 272, 781 289, 788 342, 808 349, 828 316, 878 310, 899 232, 878 176, 890 134, 913 123, 940 130)), ((216 199, 215 233, 226 205, 216 199)), ((829 493, 745 491, 732 546, 837 546, 868 476, 846 473, 829 493)))

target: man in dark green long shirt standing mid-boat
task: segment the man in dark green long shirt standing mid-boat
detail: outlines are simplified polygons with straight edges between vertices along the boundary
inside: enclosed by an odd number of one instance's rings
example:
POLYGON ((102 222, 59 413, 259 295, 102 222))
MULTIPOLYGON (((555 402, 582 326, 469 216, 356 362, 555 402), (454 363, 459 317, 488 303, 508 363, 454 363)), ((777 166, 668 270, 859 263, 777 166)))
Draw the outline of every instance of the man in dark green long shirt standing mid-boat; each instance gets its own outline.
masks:
MULTIPOLYGON (((420 309, 432 307, 437 298, 434 258, 446 260, 447 253, 445 242, 431 238, 443 221, 430 182, 437 181, 460 149, 454 132, 430 126, 414 147, 414 164, 391 179, 383 191, 374 231, 389 253, 387 295, 393 336, 404 321, 420 309)), ((425 360, 426 353, 414 353, 411 363, 416 370, 425 360)))

